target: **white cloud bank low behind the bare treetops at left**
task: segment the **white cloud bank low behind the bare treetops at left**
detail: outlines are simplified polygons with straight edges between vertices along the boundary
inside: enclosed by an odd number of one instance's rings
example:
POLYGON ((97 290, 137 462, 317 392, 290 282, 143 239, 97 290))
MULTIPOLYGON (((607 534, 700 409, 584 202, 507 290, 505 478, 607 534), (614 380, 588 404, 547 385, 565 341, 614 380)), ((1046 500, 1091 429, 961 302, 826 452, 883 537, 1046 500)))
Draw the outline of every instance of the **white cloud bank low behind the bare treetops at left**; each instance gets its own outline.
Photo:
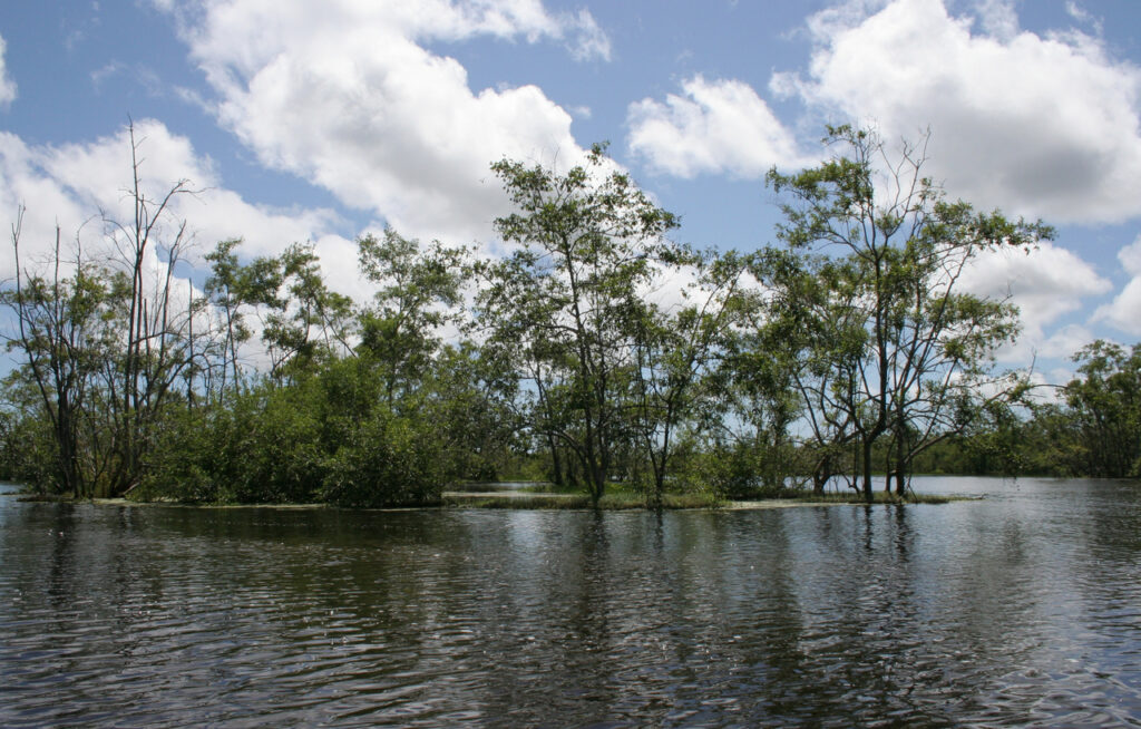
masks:
MULTIPOLYGON (((135 139, 140 188, 148 200, 161 200, 184 179, 197 191, 172 201, 170 222, 159 230, 156 241, 169 241, 175 221, 186 220, 195 240, 187 264, 201 268, 201 256, 227 238, 243 237, 241 253, 250 257, 276 254, 290 243, 311 241, 333 287, 366 295, 356 274, 353 242, 337 234, 341 221, 335 213, 246 202, 224 187, 210 160, 199 156, 188 139, 171 133, 161 122, 136 122, 135 139)), ((65 245, 78 240, 86 256, 108 253, 100 218, 131 219, 130 185, 131 146, 126 129, 94 141, 58 146, 27 145, 0 132, 0 224, 10 229, 17 210, 26 206, 21 237, 25 261, 43 260, 51 253, 57 225, 65 245)), ((0 257, 0 278, 14 274, 13 265, 11 257, 0 257)))

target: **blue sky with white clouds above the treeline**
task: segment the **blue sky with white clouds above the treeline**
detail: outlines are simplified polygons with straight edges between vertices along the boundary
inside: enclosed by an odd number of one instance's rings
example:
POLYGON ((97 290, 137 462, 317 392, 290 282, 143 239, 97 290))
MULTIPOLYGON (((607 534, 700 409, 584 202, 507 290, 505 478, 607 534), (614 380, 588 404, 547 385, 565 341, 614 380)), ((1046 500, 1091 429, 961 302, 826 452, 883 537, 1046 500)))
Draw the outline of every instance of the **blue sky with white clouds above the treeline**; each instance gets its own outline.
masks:
MULTIPOLYGON (((59 0, 0 3, 0 224, 21 250, 123 216, 128 123, 197 257, 309 241, 367 295, 354 240, 393 226, 502 252, 501 159, 565 169, 596 141, 698 248, 775 242, 772 167, 827 123, 930 131, 952 199, 1043 219, 989 254, 1003 366, 1065 382, 1095 338, 1141 341, 1141 3, 1133 0, 59 0)), ((0 246, 0 278, 14 272, 0 246)))

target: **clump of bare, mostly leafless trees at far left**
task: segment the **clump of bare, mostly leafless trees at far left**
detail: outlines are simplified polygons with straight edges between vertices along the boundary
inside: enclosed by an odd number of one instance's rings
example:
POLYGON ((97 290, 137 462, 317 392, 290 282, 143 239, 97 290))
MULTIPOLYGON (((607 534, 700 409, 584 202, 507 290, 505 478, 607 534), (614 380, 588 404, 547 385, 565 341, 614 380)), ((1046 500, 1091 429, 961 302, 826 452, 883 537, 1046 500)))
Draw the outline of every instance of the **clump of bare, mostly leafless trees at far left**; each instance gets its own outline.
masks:
POLYGON ((179 180, 152 196, 143 185, 135 129, 131 144, 130 220, 104 213, 100 262, 60 245, 44 270, 21 259, 21 221, 13 229, 15 285, 3 292, 22 350, 22 373, 35 386, 51 422, 57 463, 51 480, 76 497, 121 495, 141 477, 163 408, 189 372, 195 340, 193 299, 178 293, 175 267, 188 235, 173 201, 193 194, 179 180))

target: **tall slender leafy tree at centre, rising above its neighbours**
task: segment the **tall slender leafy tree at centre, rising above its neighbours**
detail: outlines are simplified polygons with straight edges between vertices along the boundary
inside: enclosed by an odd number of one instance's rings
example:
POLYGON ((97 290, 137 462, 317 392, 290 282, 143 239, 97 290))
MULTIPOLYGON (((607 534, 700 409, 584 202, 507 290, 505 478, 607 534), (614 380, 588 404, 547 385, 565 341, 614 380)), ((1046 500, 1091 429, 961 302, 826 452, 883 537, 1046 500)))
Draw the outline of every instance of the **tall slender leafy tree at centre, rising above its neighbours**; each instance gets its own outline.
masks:
POLYGON ((487 268, 479 316, 526 361, 534 389, 529 422, 581 468, 597 505, 614 456, 629 442, 625 411, 636 366, 632 323, 654 276, 656 246, 677 218, 596 145, 565 175, 503 160, 492 169, 516 212, 495 221, 519 245, 487 268))

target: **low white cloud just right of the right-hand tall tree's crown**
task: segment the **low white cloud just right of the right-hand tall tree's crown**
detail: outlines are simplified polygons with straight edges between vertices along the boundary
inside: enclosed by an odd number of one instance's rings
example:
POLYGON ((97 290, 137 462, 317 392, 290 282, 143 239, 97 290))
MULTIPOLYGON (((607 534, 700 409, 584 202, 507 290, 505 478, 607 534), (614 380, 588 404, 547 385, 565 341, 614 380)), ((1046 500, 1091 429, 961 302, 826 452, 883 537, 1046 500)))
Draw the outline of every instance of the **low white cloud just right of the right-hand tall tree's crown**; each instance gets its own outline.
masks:
POLYGON ((1022 333, 1018 342, 1004 348, 1004 362, 1026 363, 1034 354, 1065 357, 1092 337, 1079 326, 1068 325, 1047 334, 1061 317, 1082 308, 1082 300, 1109 291, 1102 278, 1075 253, 1042 242, 1029 253, 1021 249, 987 250, 964 272, 964 291, 996 300, 1008 300, 1019 308, 1022 333))

